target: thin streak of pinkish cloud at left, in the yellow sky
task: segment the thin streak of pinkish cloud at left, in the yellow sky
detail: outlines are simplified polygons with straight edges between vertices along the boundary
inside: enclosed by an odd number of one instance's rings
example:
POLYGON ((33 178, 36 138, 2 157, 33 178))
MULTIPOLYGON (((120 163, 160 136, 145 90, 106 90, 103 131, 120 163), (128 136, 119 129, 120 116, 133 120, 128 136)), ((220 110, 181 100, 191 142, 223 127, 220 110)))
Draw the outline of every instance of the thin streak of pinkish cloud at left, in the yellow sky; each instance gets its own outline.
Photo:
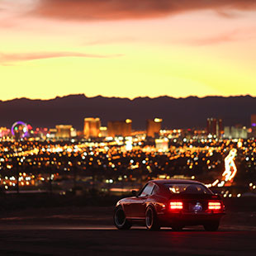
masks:
POLYGON ((54 59, 63 57, 78 57, 78 58, 115 58, 122 55, 91 55, 75 52, 40 52, 40 53, 26 53, 26 54, 3 54, 0 53, 0 63, 8 64, 12 62, 30 61, 37 59, 54 59))

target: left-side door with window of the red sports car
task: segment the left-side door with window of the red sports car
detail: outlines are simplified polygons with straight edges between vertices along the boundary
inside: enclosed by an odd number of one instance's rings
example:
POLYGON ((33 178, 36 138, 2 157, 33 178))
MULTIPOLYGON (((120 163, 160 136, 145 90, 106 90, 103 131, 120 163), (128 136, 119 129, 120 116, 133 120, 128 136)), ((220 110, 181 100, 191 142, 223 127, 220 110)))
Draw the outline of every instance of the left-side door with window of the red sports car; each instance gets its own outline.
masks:
POLYGON ((145 201, 151 195, 154 183, 148 183, 137 197, 130 199, 130 217, 134 219, 145 218, 145 201))

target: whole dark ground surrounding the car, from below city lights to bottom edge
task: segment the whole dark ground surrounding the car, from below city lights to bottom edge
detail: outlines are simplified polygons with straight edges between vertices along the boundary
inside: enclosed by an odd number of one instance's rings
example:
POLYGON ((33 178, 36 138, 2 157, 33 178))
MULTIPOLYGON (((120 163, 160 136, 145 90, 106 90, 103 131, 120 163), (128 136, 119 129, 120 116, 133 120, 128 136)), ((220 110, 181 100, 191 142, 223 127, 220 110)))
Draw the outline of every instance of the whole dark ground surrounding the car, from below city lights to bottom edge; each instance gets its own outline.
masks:
POLYGON ((111 207, 28 208, 0 215, 0 255, 255 255, 256 211, 229 211, 220 230, 116 230, 111 207))

